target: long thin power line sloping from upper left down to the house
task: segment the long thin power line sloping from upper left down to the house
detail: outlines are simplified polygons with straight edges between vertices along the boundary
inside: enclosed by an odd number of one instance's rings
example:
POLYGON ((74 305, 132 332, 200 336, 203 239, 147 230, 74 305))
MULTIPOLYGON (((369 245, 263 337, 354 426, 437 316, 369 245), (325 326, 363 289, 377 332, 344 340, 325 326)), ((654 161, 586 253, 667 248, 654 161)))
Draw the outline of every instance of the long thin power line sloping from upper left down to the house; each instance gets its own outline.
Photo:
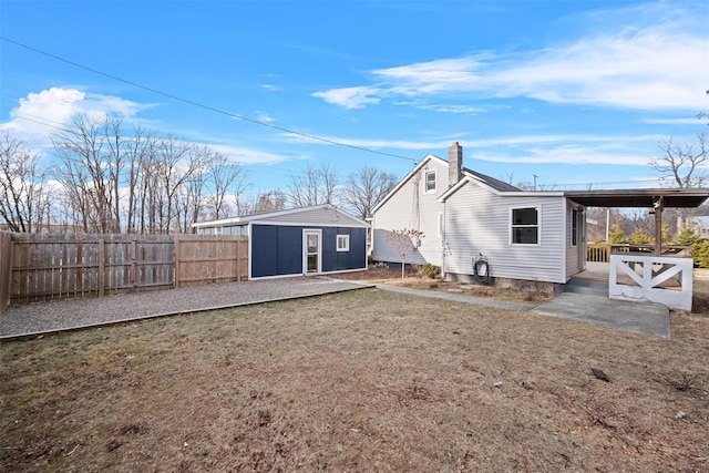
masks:
POLYGON ((370 148, 367 148, 367 147, 363 147, 363 146, 356 146, 356 145, 352 145, 352 144, 341 143, 341 142, 337 142, 335 140, 323 138, 321 136, 316 136, 316 135, 311 135, 311 134, 308 134, 308 133, 297 132, 295 130, 289 130, 289 128, 282 127, 282 126, 273 125, 270 123, 260 122, 258 120, 254 120, 254 119, 249 119, 249 117, 244 116, 244 115, 238 115, 236 113, 227 112, 225 110, 217 109, 217 107, 212 106, 212 105, 205 105, 203 103, 195 102, 195 101, 189 100, 189 99, 185 99, 185 97, 182 97, 182 96, 178 96, 178 95, 174 95, 174 94, 171 94, 171 93, 167 93, 167 92, 163 92, 163 91, 160 91, 157 89, 150 88, 147 85, 138 84, 137 82, 129 81, 129 80, 120 78, 117 75, 109 74, 106 72, 99 71, 99 70, 93 69, 93 68, 89 68, 89 66, 80 64, 78 62, 70 61, 70 60, 68 60, 65 58, 62 58, 62 56, 59 56, 59 55, 55 55, 55 54, 51 54, 51 53, 49 53, 47 51, 42 51, 42 50, 39 50, 37 48, 32 48, 32 47, 30 47, 28 44, 23 44, 21 42, 11 40, 11 39, 6 38, 6 37, 1 37, 0 35, 0 39, 3 40, 3 41, 7 41, 9 43, 12 43, 14 45, 18 45, 20 48, 24 48, 24 49, 27 49, 29 51, 35 52, 38 54, 42 54, 42 55, 45 55, 48 58, 54 59, 56 61, 61 61, 61 62, 64 62, 66 64, 73 65, 75 68, 83 69, 84 71, 89 71, 89 72, 92 72, 94 74, 103 75, 103 76, 112 79, 114 81, 123 82, 124 84, 129 84, 129 85, 132 85, 132 86, 137 88, 137 89, 143 89, 144 91, 152 92, 152 93, 157 94, 157 95, 163 95, 165 97, 168 97, 168 99, 172 99, 172 100, 175 100, 175 101, 178 101, 178 102, 183 102, 183 103, 186 103, 188 105, 193 105, 193 106, 196 106, 196 107, 199 107, 199 109, 204 109, 204 110, 207 110, 207 111, 210 111, 210 112, 219 113, 222 115, 226 115, 226 116, 229 116, 232 119, 242 120, 244 122, 253 123, 255 125, 266 126, 266 127, 269 127, 271 130, 277 130, 279 132, 284 132, 284 133, 288 133, 288 134, 292 134, 292 135, 297 135, 297 136, 302 136, 302 137, 306 137, 308 140, 315 140, 315 141, 319 141, 319 142, 322 142, 322 143, 328 143, 328 144, 336 145, 336 146, 349 147, 350 150, 357 150, 357 151, 362 151, 362 152, 366 152, 366 153, 373 153, 373 154, 379 154, 379 155, 382 155, 382 156, 395 157, 395 158, 399 158, 399 160, 407 160, 407 161, 411 161, 413 163, 418 163, 418 160, 414 160, 413 157, 401 156, 401 155, 398 155, 398 154, 384 153, 384 152, 381 152, 381 151, 370 150, 370 148))

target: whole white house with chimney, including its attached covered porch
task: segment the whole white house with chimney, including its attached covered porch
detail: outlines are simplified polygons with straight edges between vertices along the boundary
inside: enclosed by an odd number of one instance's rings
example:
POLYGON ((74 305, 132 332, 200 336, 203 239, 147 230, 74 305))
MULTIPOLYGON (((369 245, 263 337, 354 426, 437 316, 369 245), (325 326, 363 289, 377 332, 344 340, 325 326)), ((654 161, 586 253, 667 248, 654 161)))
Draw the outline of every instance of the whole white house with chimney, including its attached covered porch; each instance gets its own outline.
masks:
POLYGON ((448 161, 425 156, 372 210, 374 260, 400 263, 387 235, 410 228, 424 237, 407 256, 408 264, 440 266, 449 280, 480 281, 483 276, 495 282, 534 281, 556 289, 585 269, 586 207, 643 207, 655 214, 655 251, 612 255, 608 294, 691 307, 691 258, 662 254, 661 215, 664 208, 698 207, 709 198, 709 189, 523 192, 464 168, 462 160, 458 143, 449 148, 448 161), (672 278, 681 290, 664 286, 672 278))

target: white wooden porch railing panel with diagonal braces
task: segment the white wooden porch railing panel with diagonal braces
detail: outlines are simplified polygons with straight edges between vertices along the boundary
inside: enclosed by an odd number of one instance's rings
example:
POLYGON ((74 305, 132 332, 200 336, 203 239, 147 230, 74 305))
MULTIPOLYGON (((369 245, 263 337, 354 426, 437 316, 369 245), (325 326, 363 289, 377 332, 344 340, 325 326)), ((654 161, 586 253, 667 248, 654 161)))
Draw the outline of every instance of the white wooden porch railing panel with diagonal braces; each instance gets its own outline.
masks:
POLYGON ((691 310, 692 258, 610 255, 608 296, 691 310))

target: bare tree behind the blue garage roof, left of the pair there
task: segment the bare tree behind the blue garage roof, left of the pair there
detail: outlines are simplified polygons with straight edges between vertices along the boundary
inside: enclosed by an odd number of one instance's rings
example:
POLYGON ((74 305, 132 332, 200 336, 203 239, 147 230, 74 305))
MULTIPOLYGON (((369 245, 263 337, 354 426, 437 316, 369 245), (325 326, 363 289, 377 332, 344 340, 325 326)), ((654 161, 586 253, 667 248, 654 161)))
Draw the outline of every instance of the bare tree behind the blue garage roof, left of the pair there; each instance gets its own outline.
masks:
POLYGON ((335 167, 322 161, 319 167, 306 166, 290 178, 288 198, 295 207, 333 204, 338 185, 335 167))

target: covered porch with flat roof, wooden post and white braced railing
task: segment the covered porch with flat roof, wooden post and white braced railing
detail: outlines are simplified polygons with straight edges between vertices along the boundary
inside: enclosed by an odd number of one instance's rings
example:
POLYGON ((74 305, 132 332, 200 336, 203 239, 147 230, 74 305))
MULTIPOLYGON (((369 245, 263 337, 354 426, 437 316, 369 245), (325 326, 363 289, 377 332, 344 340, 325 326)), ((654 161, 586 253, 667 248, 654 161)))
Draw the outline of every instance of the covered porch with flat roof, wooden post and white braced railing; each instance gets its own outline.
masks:
POLYGON ((610 250, 607 261, 586 261, 573 279, 607 282, 612 299, 691 310, 693 259, 686 249, 662 245, 662 210, 698 207, 709 197, 709 189, 579 191, 565 195, 585 207, 646 207, 655 215, 655 245, 610 250))

